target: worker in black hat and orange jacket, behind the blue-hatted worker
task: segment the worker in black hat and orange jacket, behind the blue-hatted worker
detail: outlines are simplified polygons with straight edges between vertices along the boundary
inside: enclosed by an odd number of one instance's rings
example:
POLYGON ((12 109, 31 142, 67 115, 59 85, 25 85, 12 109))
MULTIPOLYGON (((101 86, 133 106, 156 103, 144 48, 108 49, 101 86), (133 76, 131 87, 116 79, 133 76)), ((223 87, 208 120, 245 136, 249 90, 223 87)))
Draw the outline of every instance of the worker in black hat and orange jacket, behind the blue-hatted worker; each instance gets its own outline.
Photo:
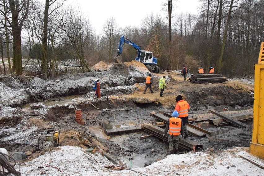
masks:
POLYGON ((183 138, 187 138, 188 130, 187 130, 187 123, 188 123, 188 111, 190 110, 190 106, 187 103, 187 101, 183 100, 182 95, 178 95, 176 97, 176 106, 174 110, 176 110, 179 113, 179 118, 183 120, 183 131, 184 131, 184 136, 183 138))

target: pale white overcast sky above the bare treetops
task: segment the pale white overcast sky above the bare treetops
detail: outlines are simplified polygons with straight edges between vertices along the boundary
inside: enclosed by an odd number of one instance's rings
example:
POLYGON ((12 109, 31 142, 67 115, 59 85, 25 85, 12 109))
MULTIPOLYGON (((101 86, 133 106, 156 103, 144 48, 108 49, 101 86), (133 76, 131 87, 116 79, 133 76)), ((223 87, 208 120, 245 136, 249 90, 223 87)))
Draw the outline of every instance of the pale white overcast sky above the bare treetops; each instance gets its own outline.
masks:
MULTIPOLYGON (((93 28, 100 33, 103 24, 109 17, 113 17, 118 26, 137 26, 147 16, 160 14, 165 16, 167 11, 162 11, 162 3, 167 0, 68 0, 72 6, 79 6, 88 16, 93 28)), ((198 13, 199 0, 173 1, 174 11, 198 13)), ((166 9, 167 10, 167 9, 166 9)))

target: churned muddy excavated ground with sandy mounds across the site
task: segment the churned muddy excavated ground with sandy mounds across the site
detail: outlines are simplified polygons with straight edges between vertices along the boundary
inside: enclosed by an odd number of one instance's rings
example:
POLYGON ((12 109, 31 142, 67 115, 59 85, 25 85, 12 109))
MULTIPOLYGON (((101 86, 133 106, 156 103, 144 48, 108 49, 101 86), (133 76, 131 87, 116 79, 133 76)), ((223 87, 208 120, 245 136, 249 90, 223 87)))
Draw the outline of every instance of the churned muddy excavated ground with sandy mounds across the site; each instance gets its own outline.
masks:
MULTIPOLYGON (((100 68, 100 67, 99 67, 100 68)), ((97 69, 98 70, 98 69, 97 69)), ((181 94, 192 108, 193 117, 216 118, 209 109, 231 113, 252 112, 254 86, 252 80, 235 79, 223 83, 192 84, 184 82, 178 71, 152 75, 152 88, 143 95, 147 68, 139 62, 113 64, 106 71, 84 74, 67 74, 56 80, 40 78, 18 79, 11 75, 0 76, 0 147, 12 152, 27 152, 34 156, 37 134, 45 127, 60 129, 60 145, 94 148, 99 146, 116 160, 128 165, 133 158, 134 167, 144 162, 157 161, 168 154, 168 143, 156 137, 140 140, 146 132, 106 136, 99 122, 106 120, 112 125, 140 126, 155 124, 152 111, 171 113, 175 98, 181 94), (167 89, 159 96, 159 78, 166 75, 167 89), (93 83, 101 82, 102 98, 93 99, 93 83), (97 109, 98 108, 98 109, 97 109), (75 109, 82 110, 84 125, 75 121, 75 109)), ((190 76, 190 75, 189 75, 190 76)), ((252 121, 248 128, 233 125, 213 126, 207 121, 196 123, 209 131, 223 134, 191 140, 202 143, 206 150, 221 151, 234 146, 249 147, 252 121)), ((183 150, 181 152, 184 152, 183 150)))

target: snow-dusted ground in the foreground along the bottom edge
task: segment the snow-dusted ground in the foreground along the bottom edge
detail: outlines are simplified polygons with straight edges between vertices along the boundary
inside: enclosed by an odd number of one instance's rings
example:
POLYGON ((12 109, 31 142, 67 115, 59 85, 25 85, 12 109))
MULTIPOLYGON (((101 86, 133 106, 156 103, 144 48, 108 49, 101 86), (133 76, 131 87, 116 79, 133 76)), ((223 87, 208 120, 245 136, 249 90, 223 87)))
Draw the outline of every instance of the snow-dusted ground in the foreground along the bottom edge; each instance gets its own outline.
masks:
MULTIPOLYGON (((212 151, 212 150, 211 150, 212 151)), ((234 175, 262 176, 264 169, 250 163, 241 156, 264 165, 263 160, 250 155, 249 147, 235 147, 217 152, 189 152, 169 155, 144 168, 113 170, 104 166, 112 165, 100 153, 87 154, 80 147, 61 146, 38 156, 24 165, 16 165, 22 175, 234 175)))

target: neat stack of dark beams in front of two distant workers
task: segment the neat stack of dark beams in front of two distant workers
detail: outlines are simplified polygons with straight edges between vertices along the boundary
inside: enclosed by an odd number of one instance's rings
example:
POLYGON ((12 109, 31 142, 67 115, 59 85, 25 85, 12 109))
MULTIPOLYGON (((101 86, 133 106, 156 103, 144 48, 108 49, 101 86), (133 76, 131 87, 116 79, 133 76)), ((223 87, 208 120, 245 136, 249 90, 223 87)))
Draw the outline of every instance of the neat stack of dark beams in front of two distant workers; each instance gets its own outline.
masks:
POLYGON ((191 75, 189 78, 191 83, 222 83, 228 81, 226 77, 223 77, 222 74, 204 74, 204 75, 191 75))

